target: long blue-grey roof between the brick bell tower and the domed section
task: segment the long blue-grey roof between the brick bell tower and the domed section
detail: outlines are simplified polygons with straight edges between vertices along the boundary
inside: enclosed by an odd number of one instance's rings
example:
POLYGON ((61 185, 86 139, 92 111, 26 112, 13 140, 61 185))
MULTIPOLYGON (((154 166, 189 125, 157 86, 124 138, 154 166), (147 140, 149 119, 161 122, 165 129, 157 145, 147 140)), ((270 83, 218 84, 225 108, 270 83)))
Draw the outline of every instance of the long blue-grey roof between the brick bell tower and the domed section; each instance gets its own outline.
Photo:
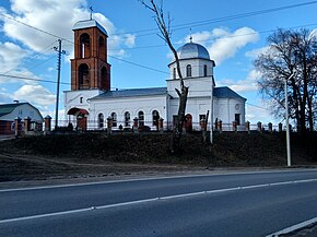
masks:
POLYGON ((109 91, 101 95, 97 95, 94 99, 104 99, 104 98, 122 98, 122 97, 133 97, 133 96, 151 96, 151 95, 166 95, 167 87, 150 87, 150 88, 127 88, 119 91, 109 91))

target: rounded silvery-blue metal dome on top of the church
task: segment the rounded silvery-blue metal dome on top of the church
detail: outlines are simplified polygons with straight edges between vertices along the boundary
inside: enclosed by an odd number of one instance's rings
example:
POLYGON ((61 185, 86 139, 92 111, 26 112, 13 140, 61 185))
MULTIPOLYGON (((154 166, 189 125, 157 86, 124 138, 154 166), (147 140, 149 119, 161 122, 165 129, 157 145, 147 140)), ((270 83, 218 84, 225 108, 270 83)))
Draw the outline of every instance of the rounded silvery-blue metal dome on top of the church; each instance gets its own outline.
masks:
POLYGON ((178 58, 181 59, 192 59, 200 58, 210 60, 208 50, 199 44, 187 43, 177 49, 178 58))

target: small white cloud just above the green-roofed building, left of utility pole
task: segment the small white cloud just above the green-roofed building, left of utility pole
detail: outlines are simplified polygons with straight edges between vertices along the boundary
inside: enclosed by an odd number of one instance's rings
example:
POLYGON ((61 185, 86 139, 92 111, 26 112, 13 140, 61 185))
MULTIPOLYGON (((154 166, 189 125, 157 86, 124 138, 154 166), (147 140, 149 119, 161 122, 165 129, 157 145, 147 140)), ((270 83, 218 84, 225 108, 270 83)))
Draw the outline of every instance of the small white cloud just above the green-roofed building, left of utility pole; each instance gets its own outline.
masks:
POLYGON ((56 99, 56 96, 42 85, 23 85, 13 93, 13 97, 42 106, 54 105, 56 99))

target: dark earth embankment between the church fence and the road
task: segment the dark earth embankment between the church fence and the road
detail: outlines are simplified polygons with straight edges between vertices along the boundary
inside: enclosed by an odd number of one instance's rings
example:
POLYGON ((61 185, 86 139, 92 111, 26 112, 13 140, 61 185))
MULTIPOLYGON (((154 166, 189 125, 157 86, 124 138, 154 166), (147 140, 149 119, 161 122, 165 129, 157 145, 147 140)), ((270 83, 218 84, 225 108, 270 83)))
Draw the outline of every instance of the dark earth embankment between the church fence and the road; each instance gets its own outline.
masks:
MULTIPOLYGON (((285 167, 285 144, 279 134, 214 135, 206 144, 186 135, 183 153, 167 153, 168 134, 67 134, 0 141, 0 182, 116 178, 153 174, 203 173, 233 168, 285 167)), ((315 165, 315 153, 293 146, 293 164, 315 165)), ((313 152, 316 152, 315 150, 313 152)))

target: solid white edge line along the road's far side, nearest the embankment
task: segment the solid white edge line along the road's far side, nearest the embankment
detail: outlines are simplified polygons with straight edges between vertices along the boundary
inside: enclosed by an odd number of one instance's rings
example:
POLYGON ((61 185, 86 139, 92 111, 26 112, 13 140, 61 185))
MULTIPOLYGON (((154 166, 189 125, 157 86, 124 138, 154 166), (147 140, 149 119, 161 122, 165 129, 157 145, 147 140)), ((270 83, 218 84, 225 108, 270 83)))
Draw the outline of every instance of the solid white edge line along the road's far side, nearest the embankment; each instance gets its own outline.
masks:
POLYGON ((51 186, 38 186, 28 188, 15 188, 15 189, 2 189, 1 192, 13 192, 13 191, 28 191, 28 190, 40 190, 40 189, 56 189, 56 188, 71 188, 80 186, 94 186, 94 185, 107 185, 118 182, 133 182, 133 181, 150 181, 150 180, 164 180, 164 179, 178 179, 178 178, 196 178, 196 177, 213 177, 213 176, 231 176, 231 175, 254 175, 254 174, 281 174, 281 173, 305 173, 305 171, 317 171, 316 168, 310 169, 278 169, 278 170, 253 170, 253 171, 226 171, 215 170, 215 174, 201 174, 201 175, 179 175, 179 176, 162 176, 162 177, 149 177, 149 178, 136 178, 136 179, 118 179, 108 181, 94 181, 94 182, 80 182, 80 183, 67 183, 67 185, 51 185, 51 186), (219 173, 218 173, 219 171, 219 173))

